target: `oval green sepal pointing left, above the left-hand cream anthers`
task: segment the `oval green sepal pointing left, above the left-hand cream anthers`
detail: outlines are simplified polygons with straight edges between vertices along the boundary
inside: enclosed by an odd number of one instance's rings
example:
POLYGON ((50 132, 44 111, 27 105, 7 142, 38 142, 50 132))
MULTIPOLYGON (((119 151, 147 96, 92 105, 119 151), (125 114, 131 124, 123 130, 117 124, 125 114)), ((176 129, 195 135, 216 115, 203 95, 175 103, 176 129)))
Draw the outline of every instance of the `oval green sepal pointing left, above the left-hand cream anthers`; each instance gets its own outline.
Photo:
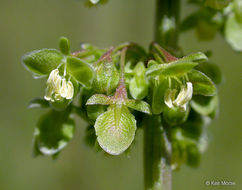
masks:
POLYGON ((64 56, 56 49, 41 49, 22 57, 25 68, 37 75, 48 75, 62 63, 64 56))

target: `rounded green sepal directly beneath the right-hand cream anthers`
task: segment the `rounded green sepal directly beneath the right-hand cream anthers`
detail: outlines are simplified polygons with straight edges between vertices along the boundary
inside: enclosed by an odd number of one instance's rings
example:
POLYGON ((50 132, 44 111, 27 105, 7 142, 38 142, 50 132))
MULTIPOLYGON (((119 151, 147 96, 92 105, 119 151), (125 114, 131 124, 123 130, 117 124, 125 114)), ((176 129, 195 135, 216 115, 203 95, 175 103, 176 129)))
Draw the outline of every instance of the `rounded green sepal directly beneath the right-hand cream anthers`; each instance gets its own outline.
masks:
POLYGON ((187 120, 189 111, 190 111, 189 106, 187 106, 186 110, 183 110, 179 107, 169 108, 165 106, 163 117, 167 123, 174 126, 174 125, 184 123, 187 120))

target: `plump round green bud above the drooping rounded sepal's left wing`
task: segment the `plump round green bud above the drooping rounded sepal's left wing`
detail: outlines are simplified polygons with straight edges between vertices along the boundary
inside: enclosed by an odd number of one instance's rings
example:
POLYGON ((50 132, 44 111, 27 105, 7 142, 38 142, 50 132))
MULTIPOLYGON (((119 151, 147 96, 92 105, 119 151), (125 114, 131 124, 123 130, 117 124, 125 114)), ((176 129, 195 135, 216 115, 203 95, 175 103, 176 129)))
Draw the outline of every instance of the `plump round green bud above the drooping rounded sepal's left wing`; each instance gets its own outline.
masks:
POLYGON ((95 70, 93 89, 98 93, 111 94, 119 83, 119 72, 114 63, 111 61, 100 62, 95 70))

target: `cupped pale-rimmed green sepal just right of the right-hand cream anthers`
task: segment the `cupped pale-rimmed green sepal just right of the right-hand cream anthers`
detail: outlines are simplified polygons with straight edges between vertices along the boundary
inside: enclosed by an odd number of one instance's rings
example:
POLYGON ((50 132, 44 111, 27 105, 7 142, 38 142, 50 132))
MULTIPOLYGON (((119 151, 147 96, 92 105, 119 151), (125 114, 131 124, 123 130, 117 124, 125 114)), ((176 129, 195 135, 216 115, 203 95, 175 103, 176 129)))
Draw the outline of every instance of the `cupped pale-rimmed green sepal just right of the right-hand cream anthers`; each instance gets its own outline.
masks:
POLYGON ((191 107, 199 114, 215 117, 218 109, 218 96, 196 95, 191 101, 191 107))

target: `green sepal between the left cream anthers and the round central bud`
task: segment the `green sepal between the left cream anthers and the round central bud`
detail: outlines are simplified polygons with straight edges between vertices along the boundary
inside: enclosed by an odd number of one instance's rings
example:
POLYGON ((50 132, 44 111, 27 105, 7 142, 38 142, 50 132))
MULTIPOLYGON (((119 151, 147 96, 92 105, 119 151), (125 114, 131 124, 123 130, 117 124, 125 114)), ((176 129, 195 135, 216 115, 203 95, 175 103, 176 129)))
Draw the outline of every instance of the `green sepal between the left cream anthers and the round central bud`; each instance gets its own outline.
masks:
POLYGON ((93 69, 81 59, 68 57, 67 72, 86 88, 91 88, 94 78, 93 69))

